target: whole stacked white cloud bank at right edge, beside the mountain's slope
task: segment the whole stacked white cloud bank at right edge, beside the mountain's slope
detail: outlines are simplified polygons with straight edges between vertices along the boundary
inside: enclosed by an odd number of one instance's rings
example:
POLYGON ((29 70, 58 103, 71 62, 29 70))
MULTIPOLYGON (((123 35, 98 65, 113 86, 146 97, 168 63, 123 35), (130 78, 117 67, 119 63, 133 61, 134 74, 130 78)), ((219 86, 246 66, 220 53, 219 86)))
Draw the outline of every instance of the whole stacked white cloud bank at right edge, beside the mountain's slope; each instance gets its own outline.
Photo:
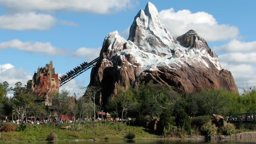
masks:
POLYGON ((219 60, 224 69, 232 72, 236 85, 240 89, 256 86, 256 42, 232 40, 227 44, 214 47, 223 52, 219 60))

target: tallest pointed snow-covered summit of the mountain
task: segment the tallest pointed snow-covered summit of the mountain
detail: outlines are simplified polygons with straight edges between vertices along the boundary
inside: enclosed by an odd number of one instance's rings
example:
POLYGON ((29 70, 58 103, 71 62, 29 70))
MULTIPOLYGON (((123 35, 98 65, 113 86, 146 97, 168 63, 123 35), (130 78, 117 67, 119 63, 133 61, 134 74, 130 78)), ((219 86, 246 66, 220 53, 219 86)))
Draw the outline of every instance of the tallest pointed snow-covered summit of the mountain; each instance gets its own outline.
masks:
POLYGON ((176 39, 166 30, 157 9, 150 2, 135 16, 128 40, 139 49, 161 57, 177 47, 176 39))

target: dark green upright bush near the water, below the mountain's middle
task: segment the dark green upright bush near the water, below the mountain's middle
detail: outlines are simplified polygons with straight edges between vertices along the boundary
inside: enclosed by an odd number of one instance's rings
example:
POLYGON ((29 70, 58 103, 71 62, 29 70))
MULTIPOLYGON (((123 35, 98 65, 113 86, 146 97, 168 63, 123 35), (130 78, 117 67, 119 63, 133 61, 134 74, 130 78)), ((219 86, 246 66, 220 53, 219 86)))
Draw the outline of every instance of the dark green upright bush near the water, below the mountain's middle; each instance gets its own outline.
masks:
POLYGON ((188 115, 182 108, 180 108, 179 111, 177 112, 177 116, 175 117, 174 121, 177 127, 184 127, 187 134, 191 133, 190 117, 188 117, 188 115))

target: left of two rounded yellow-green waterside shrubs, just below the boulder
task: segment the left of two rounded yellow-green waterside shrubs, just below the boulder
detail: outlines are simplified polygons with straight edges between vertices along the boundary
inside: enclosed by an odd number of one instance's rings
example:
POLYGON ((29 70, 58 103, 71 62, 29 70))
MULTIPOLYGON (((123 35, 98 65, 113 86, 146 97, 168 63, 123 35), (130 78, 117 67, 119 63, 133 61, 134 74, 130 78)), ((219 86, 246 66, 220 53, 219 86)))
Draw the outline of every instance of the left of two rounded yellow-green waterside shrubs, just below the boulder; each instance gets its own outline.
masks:
POLYGON ((210 139, 211 136, 214 136, 217 132, 217 127, 215 127, 214 124, 212 124, 211 121, 205 123, 200 128, 201 135, 206 136, 206 139, 210 139))

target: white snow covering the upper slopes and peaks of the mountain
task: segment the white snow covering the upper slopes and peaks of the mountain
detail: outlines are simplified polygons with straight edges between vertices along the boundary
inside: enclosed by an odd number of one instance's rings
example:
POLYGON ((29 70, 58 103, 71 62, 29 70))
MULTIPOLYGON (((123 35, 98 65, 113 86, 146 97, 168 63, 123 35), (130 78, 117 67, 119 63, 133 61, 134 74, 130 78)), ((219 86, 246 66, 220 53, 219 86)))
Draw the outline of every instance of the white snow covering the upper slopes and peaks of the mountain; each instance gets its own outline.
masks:
POLYGON ((117 31, 108 34, 105 39, 111 38, 109 40, 115 44, 120 44, 120 42, 125 44, 125 49, 123 49, 123 45, 120 45, 122 50, 115 45, 109 47, 110 55, 113 53, 116 55, 133 55, 136 62, 141 64, 142 71, 150 68, 157 69, 159 65, 166 65, 175 69, 176 66, 184 64, 184 61, 196 64, 199 62, 206 67, 209 67, 210 61, 218 70, 221 70, 218 56, 208 53, 207 44, 199 40, 198 34, 193 32, 196 35, 195 44, 191 44, 189 47, 182 46, 166 30, 155 6, 148 2, 144 11, 140 10, 135 16, 127 41, 117 31), (206 58, 209 61, 206 61, 206 58))

